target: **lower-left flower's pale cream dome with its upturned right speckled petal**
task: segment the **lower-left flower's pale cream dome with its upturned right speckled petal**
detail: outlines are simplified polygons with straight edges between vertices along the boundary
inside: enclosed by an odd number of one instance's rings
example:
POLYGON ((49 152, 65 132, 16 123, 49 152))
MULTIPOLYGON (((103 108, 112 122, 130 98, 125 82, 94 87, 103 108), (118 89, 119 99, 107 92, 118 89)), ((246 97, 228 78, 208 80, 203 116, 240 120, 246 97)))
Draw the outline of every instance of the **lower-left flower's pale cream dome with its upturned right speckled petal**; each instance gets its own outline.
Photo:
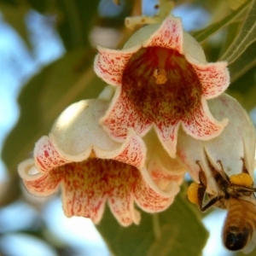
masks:
POLYGON ((102 129, 99 119, 107 108, 108 102, 102 100, 73 103, 55 121, 49 134, 52 144, 67 160, 74 162, 87 159, 93 151, 100 159, 143 166, 146 148, 141 137, 130 129, 125 142, 117 143, 102 129))

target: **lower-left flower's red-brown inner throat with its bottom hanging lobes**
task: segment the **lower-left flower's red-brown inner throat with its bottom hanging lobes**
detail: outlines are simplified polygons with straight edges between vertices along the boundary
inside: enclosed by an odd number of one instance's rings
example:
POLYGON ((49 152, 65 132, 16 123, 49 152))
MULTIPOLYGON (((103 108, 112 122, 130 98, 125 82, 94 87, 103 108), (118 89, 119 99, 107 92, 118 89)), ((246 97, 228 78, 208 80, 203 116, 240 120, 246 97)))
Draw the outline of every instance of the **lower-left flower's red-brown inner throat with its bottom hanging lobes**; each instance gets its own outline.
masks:
POLYGON ((133 187, 140 173, 134 166, 114 160, 90 159, 61 166, 62 201, 67 217, 84 216, 97 224, 108 199, 113 215, 127 226, 139 222, 133 207, 133 187))

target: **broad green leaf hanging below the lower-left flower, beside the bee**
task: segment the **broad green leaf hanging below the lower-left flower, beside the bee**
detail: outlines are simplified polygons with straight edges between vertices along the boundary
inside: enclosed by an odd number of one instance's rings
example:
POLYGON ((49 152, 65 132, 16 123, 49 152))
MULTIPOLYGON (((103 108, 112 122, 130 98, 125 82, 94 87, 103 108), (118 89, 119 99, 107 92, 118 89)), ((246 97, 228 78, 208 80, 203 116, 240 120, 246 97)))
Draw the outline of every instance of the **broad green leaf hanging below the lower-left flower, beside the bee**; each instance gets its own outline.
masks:
POLYGON ((96 228, 116 256, 196 256, 201 255, 206 244, 207 231, 195 211, 198 210, 180 193, 165 212, 155 215, 142 212, 139 225, 121 227, 108 210, 96 228), (157 238, 155 223, 160 229, 157 238))

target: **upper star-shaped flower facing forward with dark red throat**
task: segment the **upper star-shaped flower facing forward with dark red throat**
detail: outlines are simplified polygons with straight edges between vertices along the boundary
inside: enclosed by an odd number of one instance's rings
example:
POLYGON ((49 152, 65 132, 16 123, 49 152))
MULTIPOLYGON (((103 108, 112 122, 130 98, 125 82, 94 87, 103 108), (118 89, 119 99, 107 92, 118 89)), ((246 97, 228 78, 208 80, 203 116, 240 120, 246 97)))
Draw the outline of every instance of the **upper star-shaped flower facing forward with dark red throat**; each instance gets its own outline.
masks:
POLYGON ((153 126, 171 157, 176 156, 180 125, 191 137, 209 140, 223 131, 227 119, 212 117, 207 100, 229 85, 226 62, 207 63, 181 20, 169 16, 161 25, 144 26, 124 49, 98 47, 95 72, 116 87, 102 125, 117 142, 129 127, 144 136, 153 126))

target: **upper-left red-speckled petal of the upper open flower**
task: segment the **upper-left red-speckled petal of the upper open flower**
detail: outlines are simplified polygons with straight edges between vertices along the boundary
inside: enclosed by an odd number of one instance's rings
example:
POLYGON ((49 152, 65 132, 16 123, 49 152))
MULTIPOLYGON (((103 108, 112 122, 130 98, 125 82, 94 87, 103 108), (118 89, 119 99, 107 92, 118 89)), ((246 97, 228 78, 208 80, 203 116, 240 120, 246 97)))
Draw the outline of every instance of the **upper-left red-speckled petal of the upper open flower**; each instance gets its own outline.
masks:
POLYGON ((120 85, 126 63, 133 52, 98 47, 99 54, 94 61, 95 73, 107 84, 120 85))

